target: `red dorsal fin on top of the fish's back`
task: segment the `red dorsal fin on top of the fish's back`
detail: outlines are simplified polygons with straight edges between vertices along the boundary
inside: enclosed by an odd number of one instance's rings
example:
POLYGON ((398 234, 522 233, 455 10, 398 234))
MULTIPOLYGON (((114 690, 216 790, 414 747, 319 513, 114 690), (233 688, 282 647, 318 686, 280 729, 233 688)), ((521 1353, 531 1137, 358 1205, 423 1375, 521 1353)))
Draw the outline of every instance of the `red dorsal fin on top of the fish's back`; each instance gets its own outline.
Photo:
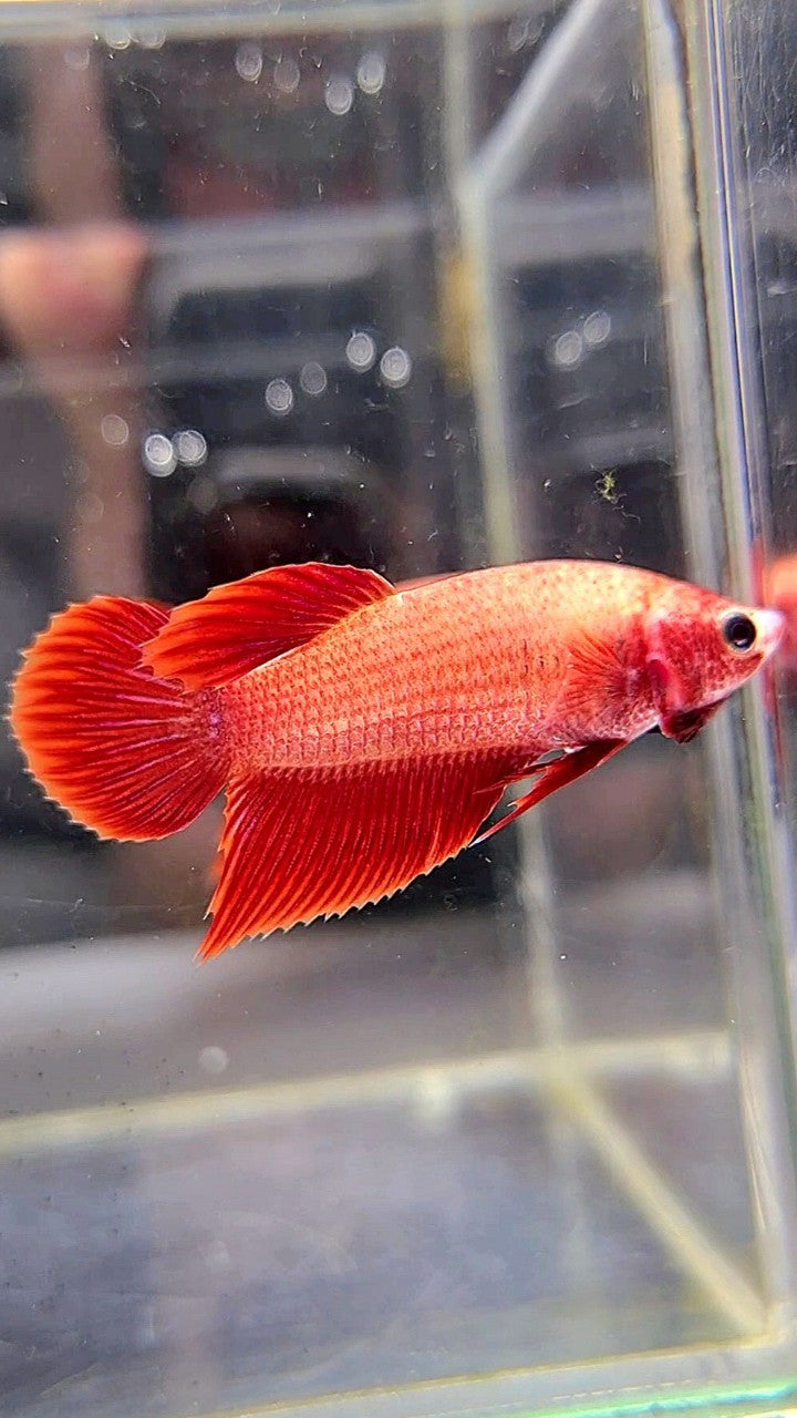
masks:
POLYGON ((355 566, 274 566, 179 605, 142 658, 186 689, 228 685, 394 594, 377 571, 355 566))

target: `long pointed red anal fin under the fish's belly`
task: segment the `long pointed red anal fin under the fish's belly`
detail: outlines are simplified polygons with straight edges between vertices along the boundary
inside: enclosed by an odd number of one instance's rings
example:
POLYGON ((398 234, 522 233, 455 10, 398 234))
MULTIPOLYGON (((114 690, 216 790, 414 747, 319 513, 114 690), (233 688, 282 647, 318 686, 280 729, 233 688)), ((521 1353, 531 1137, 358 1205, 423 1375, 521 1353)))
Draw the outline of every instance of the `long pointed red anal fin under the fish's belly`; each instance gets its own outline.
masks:
POLYGON ((450 757, 234 780, 199 954, 391 896, 468 845, 511 776, 450 757))

